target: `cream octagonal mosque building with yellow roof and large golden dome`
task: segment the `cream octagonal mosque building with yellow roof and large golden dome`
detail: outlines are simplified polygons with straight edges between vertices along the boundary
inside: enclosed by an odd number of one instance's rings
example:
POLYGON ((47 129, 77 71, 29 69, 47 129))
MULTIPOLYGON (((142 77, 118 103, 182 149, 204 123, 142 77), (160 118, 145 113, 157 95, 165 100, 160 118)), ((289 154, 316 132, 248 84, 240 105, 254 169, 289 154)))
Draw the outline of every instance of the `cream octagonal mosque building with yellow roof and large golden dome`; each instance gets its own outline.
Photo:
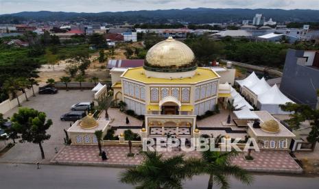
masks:
POLYGON ((126 102, 126 110, 145 115, 148 136, 167 131, 189 137, 196 115, 215 109, 220 75, 198 67, 193 51, 169 37, 147 52, 143 67, 128 68, 120 80, 113 84, 115 99, 126 102))

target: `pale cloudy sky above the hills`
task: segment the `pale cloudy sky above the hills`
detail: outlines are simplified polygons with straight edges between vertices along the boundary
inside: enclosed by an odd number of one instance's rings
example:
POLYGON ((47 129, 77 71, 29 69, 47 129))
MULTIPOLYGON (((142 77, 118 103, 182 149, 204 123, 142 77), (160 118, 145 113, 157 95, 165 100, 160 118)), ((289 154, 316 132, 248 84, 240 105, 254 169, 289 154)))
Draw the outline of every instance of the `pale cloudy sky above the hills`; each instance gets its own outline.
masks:
POLYGON ((0 0, 0 14, 23 11, 117 12, 182 8, 319 10, 318 0, 0 0))

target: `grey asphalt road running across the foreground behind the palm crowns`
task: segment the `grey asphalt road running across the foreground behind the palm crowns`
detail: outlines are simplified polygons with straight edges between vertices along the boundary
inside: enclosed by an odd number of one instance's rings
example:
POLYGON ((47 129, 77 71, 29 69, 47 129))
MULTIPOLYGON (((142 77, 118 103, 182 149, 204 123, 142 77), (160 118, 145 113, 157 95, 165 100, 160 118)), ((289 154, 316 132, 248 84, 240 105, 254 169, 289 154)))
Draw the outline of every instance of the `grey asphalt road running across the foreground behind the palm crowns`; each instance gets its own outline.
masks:
MULTIPOLYGON (((35 164, 0 164, 0 188, 133 188, 121 184, 118 176, 123 169, 89 166, 55 166, 42 165, 40 169, 35 164)), ((206 188, 206 175, 193 177, 185 181, 185 188, 206 188)), ((318 188, 318 177, 301 175, 255 175, 252 186, 245 186, 231 179, 231 188, 318 188)), ((219 188, 215 186, 214 188, 219 188)))

